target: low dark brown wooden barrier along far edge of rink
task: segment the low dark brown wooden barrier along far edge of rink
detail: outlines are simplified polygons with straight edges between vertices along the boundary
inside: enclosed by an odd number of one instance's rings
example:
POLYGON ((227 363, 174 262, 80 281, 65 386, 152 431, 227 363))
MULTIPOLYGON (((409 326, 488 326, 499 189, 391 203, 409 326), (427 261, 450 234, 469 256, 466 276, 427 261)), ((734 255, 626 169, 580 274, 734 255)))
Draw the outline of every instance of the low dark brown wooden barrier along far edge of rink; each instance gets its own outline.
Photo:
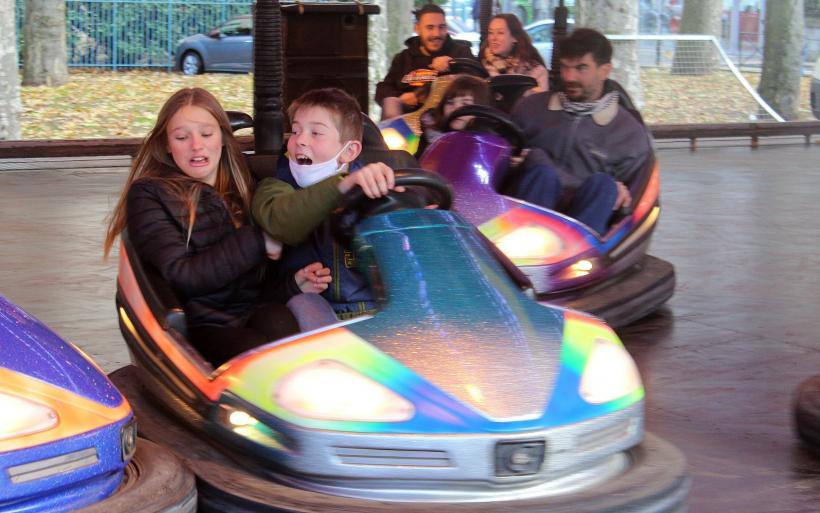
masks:
MULTIPOLYGON (((756 148, 761 137, 803 136, 809 144, 812 135, 820 134, 820 121, 649 125, 649 131, 655 139, 688 139, 693 150, 698 139, 727 137, 749 137, 756 148)), ((253 150, 252 135, 237 139, 243 151, 253 150)), ((141 138, 0 141, 0 158, 134 156, 141 143, 141 138)))

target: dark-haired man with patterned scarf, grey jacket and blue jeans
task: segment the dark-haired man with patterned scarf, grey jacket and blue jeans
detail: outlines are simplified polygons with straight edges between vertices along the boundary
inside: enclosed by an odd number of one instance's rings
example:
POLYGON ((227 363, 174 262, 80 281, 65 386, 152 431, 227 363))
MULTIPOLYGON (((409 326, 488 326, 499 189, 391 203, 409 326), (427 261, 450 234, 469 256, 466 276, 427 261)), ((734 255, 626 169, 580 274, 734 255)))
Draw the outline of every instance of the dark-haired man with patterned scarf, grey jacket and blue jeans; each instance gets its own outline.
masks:
POLYGON ((600 234, 612 212, 629 207, 628 185, 652 155, 638 116, 605 85, 612 45, 578 28, 559 45, 563 90, 521 99, 512 111, 531 148, 507 193, 558 209, 600 234))

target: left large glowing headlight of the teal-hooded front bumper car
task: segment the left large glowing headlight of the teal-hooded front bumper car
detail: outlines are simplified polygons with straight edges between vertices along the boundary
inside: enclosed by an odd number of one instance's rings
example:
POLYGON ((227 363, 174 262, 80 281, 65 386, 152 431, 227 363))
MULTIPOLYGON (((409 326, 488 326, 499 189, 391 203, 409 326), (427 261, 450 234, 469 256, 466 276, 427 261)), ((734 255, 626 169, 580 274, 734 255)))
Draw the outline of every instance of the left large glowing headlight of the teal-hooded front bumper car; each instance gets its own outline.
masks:
POLYGON ((334 360, 291 372, 274 399, 299 416, 321 420, 401 422, 414 414, 409 401, 334 360))

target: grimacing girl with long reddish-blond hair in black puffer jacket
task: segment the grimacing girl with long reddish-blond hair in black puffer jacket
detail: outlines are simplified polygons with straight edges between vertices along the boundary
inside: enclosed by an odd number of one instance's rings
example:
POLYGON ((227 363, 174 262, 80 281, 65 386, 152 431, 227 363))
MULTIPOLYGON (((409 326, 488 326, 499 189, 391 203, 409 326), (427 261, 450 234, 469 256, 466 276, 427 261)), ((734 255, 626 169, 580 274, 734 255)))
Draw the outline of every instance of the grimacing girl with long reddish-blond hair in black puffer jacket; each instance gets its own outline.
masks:
POLYGON ((273 280, 282 245, 254 225, 253 189, 219 101, 181 89, 143 141, 105 238, 107 257, 128 230, 140 259, 182 302, 191 343, 215 365, 298 332, 308 312, 320 324, 335 319, 318 294, 301 294, 327 288, 321 264, 273 280))

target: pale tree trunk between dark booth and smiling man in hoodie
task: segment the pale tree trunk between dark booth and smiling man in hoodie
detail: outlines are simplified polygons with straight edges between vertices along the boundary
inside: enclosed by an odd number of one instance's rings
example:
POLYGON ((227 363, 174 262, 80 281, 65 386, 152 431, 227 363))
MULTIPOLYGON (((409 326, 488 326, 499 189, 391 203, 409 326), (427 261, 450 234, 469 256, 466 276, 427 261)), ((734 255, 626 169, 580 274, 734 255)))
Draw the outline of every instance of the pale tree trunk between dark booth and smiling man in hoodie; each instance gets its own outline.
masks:
POLYGON ((404 50, 404 41, 413 35, 413 0, 376 0, 379 14, 368 16, 368 91, 370 117, 379 119, 381 107, 374 101, 376 84, 381 82, 393 57, 404 50))

